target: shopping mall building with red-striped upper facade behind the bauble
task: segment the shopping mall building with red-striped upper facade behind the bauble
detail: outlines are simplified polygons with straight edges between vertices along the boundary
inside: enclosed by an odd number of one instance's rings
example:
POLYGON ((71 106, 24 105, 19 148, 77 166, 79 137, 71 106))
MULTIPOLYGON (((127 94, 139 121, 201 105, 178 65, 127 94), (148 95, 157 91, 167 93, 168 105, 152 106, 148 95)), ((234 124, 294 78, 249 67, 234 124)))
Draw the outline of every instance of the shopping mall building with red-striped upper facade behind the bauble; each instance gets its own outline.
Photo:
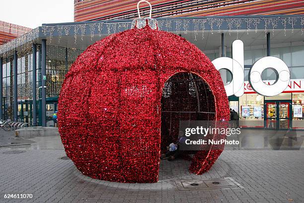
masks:
MULTIPOLYGON (((0 117, 30 125, 53 125, 65 74, 89 45, 130 29, 137 17, 137 1, 76 0, 75 21, 43 24, 0 46, 0 117)), ((158 28, 186 38, 210 60, 231 57, 232 42, 244 44, 244 94, 229 96, 243 127, 304 129, 304 2, 302 0, 151 0, 158 28), (252 90, 248 73, 265 56, 282 59, 290 70, 290 83, 274 97, 252 90)), ((149 6, 141 6, 143 16, 149 6)), ((233 50, 235 51, 235 50, 233 50)), ((221 71, 224 84, 232 80, 221 71)), ((272 67, 262 73, 276 81, 272 67)))

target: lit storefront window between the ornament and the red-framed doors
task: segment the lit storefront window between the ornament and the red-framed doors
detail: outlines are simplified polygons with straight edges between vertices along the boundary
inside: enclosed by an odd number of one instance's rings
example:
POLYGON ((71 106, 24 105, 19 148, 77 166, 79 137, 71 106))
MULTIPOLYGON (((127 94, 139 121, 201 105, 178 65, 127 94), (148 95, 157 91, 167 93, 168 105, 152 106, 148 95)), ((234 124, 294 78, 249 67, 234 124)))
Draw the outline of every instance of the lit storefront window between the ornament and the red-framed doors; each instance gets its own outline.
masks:
POLYGON ((239 98, 239 125, 243 127, 264 126, 264 97, 244 94, 239 98))

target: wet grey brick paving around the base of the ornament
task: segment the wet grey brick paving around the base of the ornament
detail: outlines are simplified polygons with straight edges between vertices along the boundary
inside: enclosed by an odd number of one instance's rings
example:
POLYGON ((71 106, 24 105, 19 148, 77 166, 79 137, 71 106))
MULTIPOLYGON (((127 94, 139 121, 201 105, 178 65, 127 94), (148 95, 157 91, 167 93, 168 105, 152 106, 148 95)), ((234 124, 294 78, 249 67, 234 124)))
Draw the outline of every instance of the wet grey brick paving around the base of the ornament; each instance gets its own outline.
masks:
MULTIPOLYGON (((54 138, 45 140, 60 141, 54 138)), ((189 174, 188 161, 164 160, 155 184, 93 180, 63 156, 62 148, 1 147, 0 203, 304 203, 304 150, 226 150, 201 176, 189 174), (25 152, 3 154, 13 150, 25 152), (243 188, 179 191, 175 185, 216 178, 232 178, 243 188), (33 198, 4 199, 4 194, 33 198)))

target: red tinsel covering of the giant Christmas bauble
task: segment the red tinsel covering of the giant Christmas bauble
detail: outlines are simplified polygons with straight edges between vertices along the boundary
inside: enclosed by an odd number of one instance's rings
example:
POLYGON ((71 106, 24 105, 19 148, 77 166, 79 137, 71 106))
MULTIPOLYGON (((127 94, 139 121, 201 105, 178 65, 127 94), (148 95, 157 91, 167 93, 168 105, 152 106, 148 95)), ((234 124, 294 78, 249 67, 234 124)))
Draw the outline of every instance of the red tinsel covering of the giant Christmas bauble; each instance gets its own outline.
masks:
MULTIPOLYGON (((58 104, 62 142, 78 170, 112 182, 157 182, 161 141, 167 139, 160 132, 162 89, 182 72, 207 84, 212 98, 205 102, 216 112, 212 119, 228 120, 220 73, 196 46, 173 33, 148 25, 133 28, 97 41, 78 56, 58 104)), ((209 171, 221 152, 197 151, 189 171, 209 171)))

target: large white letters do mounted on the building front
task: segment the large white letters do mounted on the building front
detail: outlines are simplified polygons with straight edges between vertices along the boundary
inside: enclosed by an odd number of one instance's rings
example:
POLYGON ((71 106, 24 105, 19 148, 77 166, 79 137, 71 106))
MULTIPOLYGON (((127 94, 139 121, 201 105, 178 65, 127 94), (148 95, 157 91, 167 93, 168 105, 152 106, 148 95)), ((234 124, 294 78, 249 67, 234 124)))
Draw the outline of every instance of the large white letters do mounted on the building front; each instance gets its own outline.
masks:
MULTIPOLYGON (((227 69, 232 73, 232 80, 225 85, 227 96, 240 97, 244 94, 244 45, 241 40, 232 43, 232 59, 220 57, 212 61, 219 71, 227 69)), ((267 56, 259 59, 249 70, 248 80, 252 89, 259 95, 271 97, 282 93, 290 81, 290 72, 287 65, 279 58, 267 56), (262 81, 262 72, 271 68, 276 72, 276 82, 266 85, 262 81)))

